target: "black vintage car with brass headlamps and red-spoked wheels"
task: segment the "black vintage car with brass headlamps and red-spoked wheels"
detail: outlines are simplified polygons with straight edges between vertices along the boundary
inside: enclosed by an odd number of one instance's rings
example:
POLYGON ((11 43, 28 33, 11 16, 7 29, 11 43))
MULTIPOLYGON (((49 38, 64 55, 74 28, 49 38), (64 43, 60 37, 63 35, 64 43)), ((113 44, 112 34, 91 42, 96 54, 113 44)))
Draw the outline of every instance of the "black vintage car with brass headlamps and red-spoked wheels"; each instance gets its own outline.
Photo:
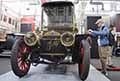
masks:
POLYGON ((42 4, 41 28, 18 38, 12 49, 11 66, 18 77, 25 76, 30 65, 77 64, 81 80, 90 67, 88 35, 79 34, 74 4, 54 1, 42 4))

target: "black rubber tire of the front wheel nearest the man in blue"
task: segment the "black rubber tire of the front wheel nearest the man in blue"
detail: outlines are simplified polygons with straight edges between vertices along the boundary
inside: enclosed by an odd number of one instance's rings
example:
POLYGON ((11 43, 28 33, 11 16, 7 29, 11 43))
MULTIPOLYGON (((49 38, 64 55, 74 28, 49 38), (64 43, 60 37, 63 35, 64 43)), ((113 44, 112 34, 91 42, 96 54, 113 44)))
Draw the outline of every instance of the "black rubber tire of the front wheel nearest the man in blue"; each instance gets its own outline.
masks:
POLYGON ((82 40, 81 41, 83 48, 84 48, 84 56, 81 58, 82 62, 78 63, 78 71, 79 71, 79 77, 82 81, 86 80, 89 74, 89 69, 90 69, 90 45, 87 40, 82 40), (82 73, 81 73, 81 67, 80 65, 83 64, 84 68, 82 68, 82 73))

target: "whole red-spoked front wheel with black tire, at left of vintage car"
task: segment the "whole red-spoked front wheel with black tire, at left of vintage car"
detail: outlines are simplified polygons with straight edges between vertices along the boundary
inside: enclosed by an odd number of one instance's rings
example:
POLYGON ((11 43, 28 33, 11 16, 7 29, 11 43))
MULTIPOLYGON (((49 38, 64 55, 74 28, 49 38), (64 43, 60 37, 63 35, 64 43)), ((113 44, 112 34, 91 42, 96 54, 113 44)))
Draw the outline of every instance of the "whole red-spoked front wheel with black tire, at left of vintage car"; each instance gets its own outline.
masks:
POLYGON ((13 72, 19 77, 26 75, 30 69, 29 52, 30 48, 25 45, 23 40, 16 40, 12 49, 11 66, 13 72))

